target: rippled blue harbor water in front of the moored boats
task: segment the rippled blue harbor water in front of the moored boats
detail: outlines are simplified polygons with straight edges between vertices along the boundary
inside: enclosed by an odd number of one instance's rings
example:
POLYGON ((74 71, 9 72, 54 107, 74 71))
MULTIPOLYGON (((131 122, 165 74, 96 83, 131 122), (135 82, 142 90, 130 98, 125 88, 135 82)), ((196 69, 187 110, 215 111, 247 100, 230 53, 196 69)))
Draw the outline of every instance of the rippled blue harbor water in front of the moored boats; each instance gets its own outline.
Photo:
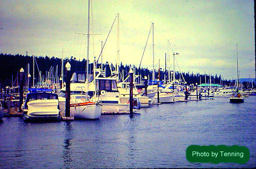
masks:
POLYGON ((256 97, 163 104, 140 115, 95 121, 0 123, 0 168, 146 168, 256 166, 256 97), (189 163, 189 145, 239 145, 246 164, 189 163))

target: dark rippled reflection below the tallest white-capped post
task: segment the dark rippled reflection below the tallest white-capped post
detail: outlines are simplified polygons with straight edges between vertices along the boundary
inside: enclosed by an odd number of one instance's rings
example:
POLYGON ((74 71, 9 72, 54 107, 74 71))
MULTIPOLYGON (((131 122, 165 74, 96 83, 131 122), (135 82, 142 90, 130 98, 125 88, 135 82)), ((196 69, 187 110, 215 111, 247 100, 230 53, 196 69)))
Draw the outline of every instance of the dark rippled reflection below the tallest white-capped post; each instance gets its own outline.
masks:
POLYGON ((64 149, 63 149, 63 161, 65 168, 72 168, 71 163, 73 162, 72 159, 72 139, 73 139, 73 126, 70 122, 66 122, 65 124, 65 140, 64 140, 64 149))

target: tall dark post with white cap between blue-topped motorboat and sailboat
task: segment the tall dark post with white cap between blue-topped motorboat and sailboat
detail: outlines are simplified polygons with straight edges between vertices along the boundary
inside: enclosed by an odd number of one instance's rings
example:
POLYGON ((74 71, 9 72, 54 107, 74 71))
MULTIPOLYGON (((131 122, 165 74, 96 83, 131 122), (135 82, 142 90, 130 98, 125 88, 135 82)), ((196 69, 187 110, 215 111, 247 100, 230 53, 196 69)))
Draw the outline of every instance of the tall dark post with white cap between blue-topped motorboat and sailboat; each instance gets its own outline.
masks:
POLYGON ((66 64, 66 109, 65 116, 70 117, 70 69, 71 65, 69 62, 66 64))

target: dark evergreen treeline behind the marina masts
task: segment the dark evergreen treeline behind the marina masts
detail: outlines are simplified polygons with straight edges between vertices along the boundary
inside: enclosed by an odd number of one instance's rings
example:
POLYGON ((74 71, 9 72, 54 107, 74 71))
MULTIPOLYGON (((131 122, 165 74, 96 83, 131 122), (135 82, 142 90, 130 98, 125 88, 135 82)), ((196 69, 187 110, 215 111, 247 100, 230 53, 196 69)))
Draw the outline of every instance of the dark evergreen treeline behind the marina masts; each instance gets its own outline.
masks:
MULTIPOLYGON (((61 58, 58 57, 54 57, 54 56, 35 56, 36 58, 36 62, 35 62, 35 82, 39 81, 39 71, 41 71, 41 74, 46 77, 46 73, 49 73, 51 67, 53 67, 53 72, 56 71, 57 69, 57 65, 58 65, 58 74, 60 77, 60 72, 61 72, 61 58)), ((5 86, 12 86, 12 81, 13 81, 13 85, 15 86, 17 84, 17 75, 19 70, 21 69, 21 67, 25 70, 25 73, 27 74, 27 72, 29 71, 30 75, 31 75, 31 79, 33 77, 33 56, 28 56, 28 55, 20 55, 20 54, 16 54, 16 55, 11 55, 11 54, 0 54, 0 83, 1 83, 1 87, 5 87, 5 86), (28 63, 29 63, 29 70, 28 70, 28 63), (15 81, 16 80, 16 81, 15 81)), ((76 72, 76 71, 85 71, 86 70, 86 60, 83 59, 81 60, 76 60, 76 58, 74 56, 71 56, 70 58, 65 58, 63 60, 64 62, 64 66, 67 62, 69 62, 71 64, 71 72, 76 72)), ((89 61, 90 62, 90 61, 89 61)), ((96 66, 97 68, 100 67, 100 63, 97 63, 96 66)), ((106 62, 105 64, 103 64, 103 70, 106 70, 105 74, 106 77, 109 77, 111 75, 111 71, 115 71, 116 70, 116 65, 113 64, 108 64, 108 62, 106 62)), ((149 77, 150 80, 152 80, 152 75, 153 75, 153 71, 149 70, 148 68, 143 68, 140 67, 138 69, 138 67, 135 67, 134 65, 123 65, 122 62, 119 65, 119 73, 120 73, 120 79, 125 79, 129 73, 129 70, 131 67, 134 67, 134 72, 136 75, 140 75, 142 77, 142 80, 144 79, 145 76, 149 77)), ((93 63, 89 64, 89 70, 90 73, 92 73, 93 71, 93 63)), ((64 71, 65 73, 65 71, 64 71)), ((210 75, 209 74, 199 74, 199 73, 193 73, 193 72, 176 72, 175 73, 175 79, 182 79, 183 75, 184 79, 187 81, 188 84, 192 84, 192 83, 197 83, 198 85, 201 83, 205 83, 205 78, 206 78, 206 82, 210 83, 210 75)), ((59 78, 58 77, 58 78, 59 78)), ((26 76, 27 78, 27 76, 26 76)), ((169 72, 165 71, 163 69, 156 70, 155 71, 155 80, 168 80, 169 79, 169 72), (159 75, 158 75, 159 74, 159 75)), ((31 80, 30 80, 31 82, 31 80)), ((215 74, 214 76, 211 76, 211 82, 212 83, 218 83, 222 85, 230 85, 230 81, 229 80, 223 80, 221 79, 221 75, 217 75, 215 74)), ((30 83, 31 84, 31 83, 30 83)))

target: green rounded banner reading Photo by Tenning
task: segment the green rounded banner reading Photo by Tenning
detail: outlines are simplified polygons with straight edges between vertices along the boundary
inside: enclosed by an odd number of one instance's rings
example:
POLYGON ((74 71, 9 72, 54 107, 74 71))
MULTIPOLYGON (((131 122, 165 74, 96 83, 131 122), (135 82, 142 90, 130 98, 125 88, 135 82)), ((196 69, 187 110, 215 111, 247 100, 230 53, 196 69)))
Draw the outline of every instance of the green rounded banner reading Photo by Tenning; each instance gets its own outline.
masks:
POLYGON ((245 146, 188 146, 186 157, 190 163, 239 163, 245 164, 250 159, 250 151, 245 146))

